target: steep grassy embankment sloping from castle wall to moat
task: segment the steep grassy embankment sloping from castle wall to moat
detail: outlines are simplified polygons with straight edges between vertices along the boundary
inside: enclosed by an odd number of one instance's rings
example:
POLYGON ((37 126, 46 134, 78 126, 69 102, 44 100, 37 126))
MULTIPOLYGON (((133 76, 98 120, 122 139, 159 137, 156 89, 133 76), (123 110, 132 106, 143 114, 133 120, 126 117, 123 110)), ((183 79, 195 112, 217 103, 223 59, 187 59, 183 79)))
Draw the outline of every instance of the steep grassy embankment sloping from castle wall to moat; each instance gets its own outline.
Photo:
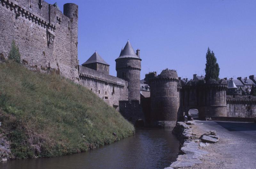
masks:
POLYGON ((0 63, 0 121, 0 136, 10 141, 16 158, 86 151, 134 132, 90 90, 13 62, 0 63))

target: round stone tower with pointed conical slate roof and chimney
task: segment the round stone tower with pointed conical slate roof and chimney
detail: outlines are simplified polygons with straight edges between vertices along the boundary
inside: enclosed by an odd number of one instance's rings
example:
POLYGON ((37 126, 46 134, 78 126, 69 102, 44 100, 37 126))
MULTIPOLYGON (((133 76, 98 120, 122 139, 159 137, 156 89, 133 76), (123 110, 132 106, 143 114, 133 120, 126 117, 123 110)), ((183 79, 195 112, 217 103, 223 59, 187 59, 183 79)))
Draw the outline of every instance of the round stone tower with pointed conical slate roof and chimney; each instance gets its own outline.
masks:
POLYGON ((140 62, 140 50, 138 49, 136 54, 128 40, 116 59, 117 77, 128 82, 128 100, 140 101, 140 62))

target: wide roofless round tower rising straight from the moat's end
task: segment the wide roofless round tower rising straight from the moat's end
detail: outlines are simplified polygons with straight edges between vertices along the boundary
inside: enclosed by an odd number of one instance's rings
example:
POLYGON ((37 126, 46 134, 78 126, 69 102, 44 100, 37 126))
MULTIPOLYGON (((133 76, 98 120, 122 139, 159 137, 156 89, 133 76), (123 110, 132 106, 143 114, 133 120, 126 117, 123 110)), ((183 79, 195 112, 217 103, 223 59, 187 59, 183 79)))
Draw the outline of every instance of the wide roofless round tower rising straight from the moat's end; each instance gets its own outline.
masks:
POLYGON ((175 127, 179 108, 178 75, 175 70, 163 70, 149 79, 151 96, 151 125, 175 127))

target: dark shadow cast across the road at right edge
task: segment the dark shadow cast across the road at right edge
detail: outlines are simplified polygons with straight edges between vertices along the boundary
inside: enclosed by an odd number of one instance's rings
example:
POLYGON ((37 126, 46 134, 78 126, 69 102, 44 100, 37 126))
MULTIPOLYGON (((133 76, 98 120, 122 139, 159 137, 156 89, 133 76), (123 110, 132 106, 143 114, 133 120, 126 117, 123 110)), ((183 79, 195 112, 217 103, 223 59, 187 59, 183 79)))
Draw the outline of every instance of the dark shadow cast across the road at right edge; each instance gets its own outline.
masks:
POLYGON ((228 131, 256 131, 256 123, 215 121, 228 131))

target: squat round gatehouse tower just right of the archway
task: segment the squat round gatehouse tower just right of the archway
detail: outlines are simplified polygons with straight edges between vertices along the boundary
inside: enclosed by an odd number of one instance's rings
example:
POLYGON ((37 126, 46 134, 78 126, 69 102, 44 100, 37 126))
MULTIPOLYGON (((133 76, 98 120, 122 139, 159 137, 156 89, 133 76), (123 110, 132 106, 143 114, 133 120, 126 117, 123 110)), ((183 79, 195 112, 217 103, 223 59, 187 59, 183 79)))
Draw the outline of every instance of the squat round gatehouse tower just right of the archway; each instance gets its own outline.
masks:
POLYGON ((203 87, 204 107, 201 107, 199 116, 219 116, 227 117, 227 98, 226 92, 228 83, 225 79, 217 82, 209 79, 203 87))

